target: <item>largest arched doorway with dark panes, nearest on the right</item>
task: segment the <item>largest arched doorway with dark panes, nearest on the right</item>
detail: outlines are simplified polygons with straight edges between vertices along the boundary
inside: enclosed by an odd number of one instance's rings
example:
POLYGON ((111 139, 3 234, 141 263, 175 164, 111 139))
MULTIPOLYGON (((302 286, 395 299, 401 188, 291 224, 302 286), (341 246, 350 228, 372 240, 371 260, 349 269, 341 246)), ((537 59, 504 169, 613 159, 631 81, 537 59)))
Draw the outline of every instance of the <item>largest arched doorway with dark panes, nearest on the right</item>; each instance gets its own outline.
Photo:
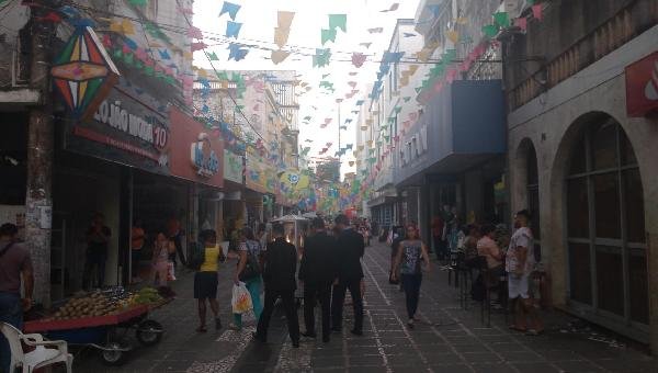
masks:
POLYGON ((589 115, 567 162, 569 299, 626 325, 649 323, 644 196, 622 126, 589 115))

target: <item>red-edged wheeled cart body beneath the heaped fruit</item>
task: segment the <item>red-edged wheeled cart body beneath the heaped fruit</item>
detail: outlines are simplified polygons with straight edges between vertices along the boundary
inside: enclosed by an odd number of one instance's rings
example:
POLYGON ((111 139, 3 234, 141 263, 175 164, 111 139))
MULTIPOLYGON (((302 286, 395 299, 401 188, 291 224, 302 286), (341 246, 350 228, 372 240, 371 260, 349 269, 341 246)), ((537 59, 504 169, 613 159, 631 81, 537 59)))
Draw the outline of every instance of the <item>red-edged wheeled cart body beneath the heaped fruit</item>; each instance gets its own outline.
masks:
POLYGON ((131 305, 100 316, 43 318, 25 323, 24 331, 38 332, 53 340, 65 340, 72 348, 95 349, 103 363, 122 365, 128 352, 134 349, 127 338, 131 331, 135 332, 141 346, 149 347, 160 342, 162 325, 149 319, 148 314, 169 302, 171 299, 131 305))

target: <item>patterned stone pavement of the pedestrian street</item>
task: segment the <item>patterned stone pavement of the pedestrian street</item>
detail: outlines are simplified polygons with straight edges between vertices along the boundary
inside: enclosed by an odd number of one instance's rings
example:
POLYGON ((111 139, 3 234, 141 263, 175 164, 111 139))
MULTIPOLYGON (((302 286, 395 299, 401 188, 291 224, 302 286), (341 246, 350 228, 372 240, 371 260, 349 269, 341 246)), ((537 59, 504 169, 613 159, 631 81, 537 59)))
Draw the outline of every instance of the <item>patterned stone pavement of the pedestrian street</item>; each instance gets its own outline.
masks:
MULTIPOLYGON (((388 284, 388 248, 366 249, 364 336, 353 337, 351 307, 341 335, 325 344, 303 340, 293 349, 281 313, 273 318, 268 344, 251 341, 253 327, 194 332, 196 312, 192 275, 180 276, 177 299, 154 313, 166 334, 157 347, 139 348, 122 368, 105 368, 92 353, 76 358, 76 372, 658 372, 658 362, 602 335, 564 332, 570 318, 547 313, 547 332, 527 337, 508 330, 502 315, 491 327, 480 319, 479 306, 460 307, 457 291, 447 285, 446 272, 433 263, 424 275, 419 318, 413 330, 405 327, 405 298, 388 284), (592 340, 593 339, 599 339, 592 340)), ((225 325, 230 312, 231 263, 223 268, 219 286, 225 325)), ((299 313, 302 321, 302 313, 299 313)), ((300 323, 303 325, 303 323, 300 323)))

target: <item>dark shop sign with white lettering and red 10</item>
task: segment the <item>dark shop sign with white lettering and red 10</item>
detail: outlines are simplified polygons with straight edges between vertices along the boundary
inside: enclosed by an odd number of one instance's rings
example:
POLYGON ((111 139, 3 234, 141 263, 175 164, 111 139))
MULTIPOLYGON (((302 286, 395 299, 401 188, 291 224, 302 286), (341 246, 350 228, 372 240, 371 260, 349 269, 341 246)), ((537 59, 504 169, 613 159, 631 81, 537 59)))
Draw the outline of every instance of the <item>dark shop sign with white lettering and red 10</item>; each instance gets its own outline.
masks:
POLYGON ((89 118, 67 121, 65 148, 169 174, 168 108, 123 77, 89 118))

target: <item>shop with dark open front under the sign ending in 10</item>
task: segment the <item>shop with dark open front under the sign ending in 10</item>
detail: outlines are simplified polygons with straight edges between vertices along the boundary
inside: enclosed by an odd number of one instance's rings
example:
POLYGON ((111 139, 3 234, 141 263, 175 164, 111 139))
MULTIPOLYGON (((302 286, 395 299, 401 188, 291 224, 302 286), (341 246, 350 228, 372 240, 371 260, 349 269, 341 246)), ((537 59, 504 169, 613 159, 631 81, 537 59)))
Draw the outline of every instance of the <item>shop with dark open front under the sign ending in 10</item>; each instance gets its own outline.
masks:
POLYGON ((170 174, 170 122, 162 108, 122 78, 90 117, 65 117, 57 124, 61 146, 53 177, 53 299, 88 285, 81 275, 86 233, 97 213, 112 233, 104 284, 123 284, 129 278, 135 172, 170 174))

